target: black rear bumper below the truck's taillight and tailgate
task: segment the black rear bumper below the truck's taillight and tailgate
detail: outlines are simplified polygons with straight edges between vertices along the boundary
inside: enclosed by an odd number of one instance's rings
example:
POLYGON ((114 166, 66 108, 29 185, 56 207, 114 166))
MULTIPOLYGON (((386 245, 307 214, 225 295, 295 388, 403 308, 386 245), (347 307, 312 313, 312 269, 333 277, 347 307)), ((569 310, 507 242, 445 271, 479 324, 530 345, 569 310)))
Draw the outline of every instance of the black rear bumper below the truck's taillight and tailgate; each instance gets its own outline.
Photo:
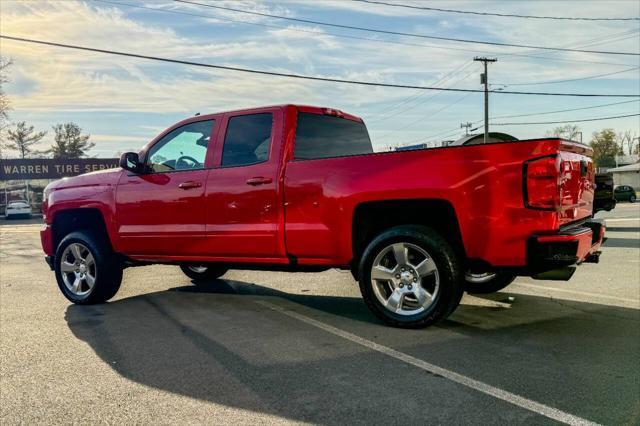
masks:
POLYGON ((535 277, 583 262, 597 263, 604 234, 604 221, 592 219, 554 234, 533 235, 527 247, 527 269, 535 277))

